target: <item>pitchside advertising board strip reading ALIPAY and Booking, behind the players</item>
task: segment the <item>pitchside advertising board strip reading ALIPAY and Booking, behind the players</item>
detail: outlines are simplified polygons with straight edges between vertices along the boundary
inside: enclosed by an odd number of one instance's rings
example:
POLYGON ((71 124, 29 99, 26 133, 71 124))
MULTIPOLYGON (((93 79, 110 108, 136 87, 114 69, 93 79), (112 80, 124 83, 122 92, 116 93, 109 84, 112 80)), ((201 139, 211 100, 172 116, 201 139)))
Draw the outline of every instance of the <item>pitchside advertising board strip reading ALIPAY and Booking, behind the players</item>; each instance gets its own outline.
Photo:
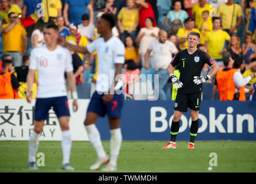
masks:
MULTIPOLYGON (((89 99, 78 100, 78 112, 70 106, 70 130, 74 141, 89 140, 83 121, 89 99)), ((173 119, 173 101, 125 101, 121 117, 123 140, 170 139, 173 119)), ((58 119, 51 109, 41 132, 40 140, 61 140, 58 119)), ((35 101, 0 101, 0 140, 28 140, 35 124, 35 101)), ((190 110, 180 120, 177 140, 189 140, 190 110)), ((102 140, 110 139, 108 118, 98 118, 96 125, 102 140)), ((196 140, 254 140, 256 141, 256 103, 202 101, 199 112, 199 129, 196 140)))

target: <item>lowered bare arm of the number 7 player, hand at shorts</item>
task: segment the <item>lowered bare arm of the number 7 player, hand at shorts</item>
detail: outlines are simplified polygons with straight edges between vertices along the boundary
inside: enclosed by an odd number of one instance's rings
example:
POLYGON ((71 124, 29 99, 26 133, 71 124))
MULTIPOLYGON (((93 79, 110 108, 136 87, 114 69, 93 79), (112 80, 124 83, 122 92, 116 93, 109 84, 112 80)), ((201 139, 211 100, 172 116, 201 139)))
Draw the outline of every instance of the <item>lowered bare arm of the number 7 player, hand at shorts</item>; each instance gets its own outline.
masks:
POLYGON ((123 68, 123 64, 121 63, 116 63, 116 72, 114 74, 114 82, 113 85, 110 87, 108 94, 105 94, 102 99, 104 101, 105 104, 108 104, 114 95, 114 87, 117 85, 117 82, 119 82, 119 79, 121 78, 121 73, 122 73, 122 68, 123 68))

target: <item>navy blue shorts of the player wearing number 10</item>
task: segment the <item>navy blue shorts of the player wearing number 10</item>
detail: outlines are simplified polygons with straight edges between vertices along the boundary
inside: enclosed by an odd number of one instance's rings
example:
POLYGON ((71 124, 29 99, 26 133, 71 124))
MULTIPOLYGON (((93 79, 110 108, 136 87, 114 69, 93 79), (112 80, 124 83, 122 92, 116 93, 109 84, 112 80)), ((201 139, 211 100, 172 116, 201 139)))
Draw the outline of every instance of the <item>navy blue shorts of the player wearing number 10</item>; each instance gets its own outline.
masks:
POLYGON ((52 97, 52 98, 37 98, 36 108, 35 108, 35 120, 41 121, 46 120, 48 117, 48 112, 54 108, 56 116, 70 116, 70 110, 68 108, 67 97, 52 97))

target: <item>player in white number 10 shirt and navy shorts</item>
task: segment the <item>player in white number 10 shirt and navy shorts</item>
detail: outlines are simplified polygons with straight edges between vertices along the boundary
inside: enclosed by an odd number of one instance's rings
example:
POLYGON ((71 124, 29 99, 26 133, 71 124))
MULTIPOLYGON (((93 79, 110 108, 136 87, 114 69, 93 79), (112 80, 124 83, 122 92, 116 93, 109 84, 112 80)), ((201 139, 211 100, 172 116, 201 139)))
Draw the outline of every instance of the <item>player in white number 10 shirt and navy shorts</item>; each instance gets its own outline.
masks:
POLYGON ((39 136, 47 119, 48 111, 53 106, 62 129, 63 170, 74 170, 70 166, 71 133, 68 127, 70 112, 68 109, 67 92, 64 73, 72 91, 73 110, 78 109, 77 87, 73 74, 72 57, 70 51, 57 44, 59 28, 57 25, 48 25, 44 30, 45 45, 32 50, 30 55, 29 72, 27 76, 27 101, 32 99, 31 87, 35 80, 35 71, 38 74, 38 89, 35 107, 35 127, 29 138, 28 167, 37 170, 36 152, 39 147, 39 136))

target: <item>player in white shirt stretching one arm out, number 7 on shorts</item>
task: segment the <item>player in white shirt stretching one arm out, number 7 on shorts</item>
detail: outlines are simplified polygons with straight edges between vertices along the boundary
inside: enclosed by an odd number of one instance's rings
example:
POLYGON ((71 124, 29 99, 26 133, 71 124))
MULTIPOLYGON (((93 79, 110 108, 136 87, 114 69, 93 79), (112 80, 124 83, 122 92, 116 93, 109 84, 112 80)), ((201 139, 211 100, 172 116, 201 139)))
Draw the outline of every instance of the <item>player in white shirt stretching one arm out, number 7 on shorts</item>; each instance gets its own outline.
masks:
POLYGON ((125 48, 121 40, 112 35, 111 29, 115 22, 116 20, 112 14, 102 14, 96 25, 98 33, 102 37, 94 40, 86 47, 71 45, 64 39, 59 40, 60 44, 66 45, 76 52, 91 53, 97 51, 98 53, 96 91, 91 97, 85 120, 86 132, 98 155, 98 159, 90 167, 91 170, 98 170, 103 164, 109 162, 108 166, 102 170, 116 171, 117 158, 122 142, 119 123, 124 95, 120 91, 123 85, 119 79, 121 79, 120 74, 124 63, 125 48), (104 117, 106 113, 108 114, 111 134, 110 159, 102 147, 100 133, 94 124, 98 116, 104 117))

